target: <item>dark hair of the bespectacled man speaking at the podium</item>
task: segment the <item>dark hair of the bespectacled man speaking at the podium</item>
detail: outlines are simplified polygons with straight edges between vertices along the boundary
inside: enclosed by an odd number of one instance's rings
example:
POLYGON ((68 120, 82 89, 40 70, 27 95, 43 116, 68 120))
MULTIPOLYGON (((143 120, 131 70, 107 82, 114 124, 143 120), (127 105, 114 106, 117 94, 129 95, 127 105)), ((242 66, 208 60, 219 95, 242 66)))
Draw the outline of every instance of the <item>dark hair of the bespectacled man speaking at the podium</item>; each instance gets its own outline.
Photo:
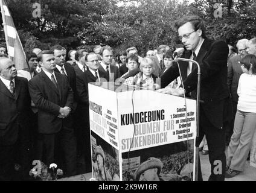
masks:
POLYGON ((196 15, 187 15, 179 19, 175 22, 174 27, 178 30, 182 25, 186 24, 187 22, 190 22, 190 24, 193 25, 194 31, 196 30, 202 30, 202 37, 206 38, 206 32, 205 32, 205 22, 203 19, 196 15))

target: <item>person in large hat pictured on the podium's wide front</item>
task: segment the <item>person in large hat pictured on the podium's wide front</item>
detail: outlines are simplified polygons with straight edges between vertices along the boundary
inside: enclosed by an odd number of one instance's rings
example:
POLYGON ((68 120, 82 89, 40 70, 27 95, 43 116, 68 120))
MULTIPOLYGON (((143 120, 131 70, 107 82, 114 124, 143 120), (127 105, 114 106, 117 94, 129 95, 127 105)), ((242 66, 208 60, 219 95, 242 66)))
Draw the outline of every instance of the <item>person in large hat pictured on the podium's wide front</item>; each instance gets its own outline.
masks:
POLYGON ((161 175, 161 169, 163 167, 161 160, 150 157, 145 162, 141 163, 138 169, 135 171, 136 181, 181 181, 182 177, 177 174, 165 174, 161 175))

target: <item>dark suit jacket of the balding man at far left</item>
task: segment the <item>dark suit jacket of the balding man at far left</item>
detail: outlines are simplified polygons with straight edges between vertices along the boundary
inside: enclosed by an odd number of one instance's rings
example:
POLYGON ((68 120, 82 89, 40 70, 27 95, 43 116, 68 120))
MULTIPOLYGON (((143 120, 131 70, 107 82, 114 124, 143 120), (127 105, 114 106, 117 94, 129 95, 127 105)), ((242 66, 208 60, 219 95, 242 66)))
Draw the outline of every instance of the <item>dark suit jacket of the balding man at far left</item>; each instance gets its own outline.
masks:
POLYGON ((28 130, 31 99, 27 78, 15 77, 16 98, 0 80, 0 145, 13 145, 19 126, 28 130))

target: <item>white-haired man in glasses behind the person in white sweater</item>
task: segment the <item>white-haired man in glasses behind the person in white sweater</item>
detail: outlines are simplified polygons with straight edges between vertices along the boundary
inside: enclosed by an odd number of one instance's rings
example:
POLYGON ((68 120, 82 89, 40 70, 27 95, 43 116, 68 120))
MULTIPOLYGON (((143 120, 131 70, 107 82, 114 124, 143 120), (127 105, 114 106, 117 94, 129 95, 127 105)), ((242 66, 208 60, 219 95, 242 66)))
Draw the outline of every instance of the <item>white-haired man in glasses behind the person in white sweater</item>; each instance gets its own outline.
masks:
POLYGON ((235 121, 235 113, 237 113, 237 87, 240 75, 243 73, 241 69, 240 60, 244 57, 248 52, 246 51, 247 45, 249 40, 242 39, 238 40, 237 42, 237 50, 238 55, 235 55, 231 59, 229 59, 228 63, 228 88, 229 92, 231 93, 232 99, 232 109, 233 109, 233 119, 229 123, 228 127, 226 128, 226 145, 229 144, 231 135, 233 133, 234 121, 235 121))

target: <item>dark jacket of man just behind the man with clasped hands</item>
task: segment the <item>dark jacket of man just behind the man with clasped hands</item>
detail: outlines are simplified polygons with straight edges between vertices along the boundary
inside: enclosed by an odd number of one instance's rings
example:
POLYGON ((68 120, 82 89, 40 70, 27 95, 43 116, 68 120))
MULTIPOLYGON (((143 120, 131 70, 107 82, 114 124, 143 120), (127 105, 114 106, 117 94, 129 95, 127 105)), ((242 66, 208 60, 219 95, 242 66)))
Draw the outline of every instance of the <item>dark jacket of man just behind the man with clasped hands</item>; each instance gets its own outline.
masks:
MULTIPOLYGON (((74 93, 74 103, 73 103, 72 110, 75 110, 77 109, 77 86, 76 86, 75 70, 69 63, 65 63, 64 67, 66 70, 66 74, 68 75, 69 85, 71 86, 74 93)), ((60 73, 60 71, 57 68, 54 69, 54 71, 60 73)))

